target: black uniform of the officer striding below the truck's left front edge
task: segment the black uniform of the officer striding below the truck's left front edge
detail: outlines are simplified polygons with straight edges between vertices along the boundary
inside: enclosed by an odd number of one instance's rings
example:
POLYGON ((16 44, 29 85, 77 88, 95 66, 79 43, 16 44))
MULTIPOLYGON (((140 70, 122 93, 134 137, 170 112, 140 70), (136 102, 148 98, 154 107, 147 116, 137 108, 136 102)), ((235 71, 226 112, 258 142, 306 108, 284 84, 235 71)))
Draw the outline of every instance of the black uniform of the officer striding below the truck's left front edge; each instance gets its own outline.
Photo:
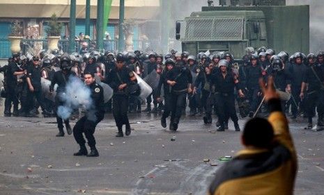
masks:
POLYGON ((173 67, 167 72, 167 80, 176 81, 171 87, 171 122, 170 129, 177 130, 180 117, 185 110, 188 84, 192 84, 192 74, 186 67, 173 67))

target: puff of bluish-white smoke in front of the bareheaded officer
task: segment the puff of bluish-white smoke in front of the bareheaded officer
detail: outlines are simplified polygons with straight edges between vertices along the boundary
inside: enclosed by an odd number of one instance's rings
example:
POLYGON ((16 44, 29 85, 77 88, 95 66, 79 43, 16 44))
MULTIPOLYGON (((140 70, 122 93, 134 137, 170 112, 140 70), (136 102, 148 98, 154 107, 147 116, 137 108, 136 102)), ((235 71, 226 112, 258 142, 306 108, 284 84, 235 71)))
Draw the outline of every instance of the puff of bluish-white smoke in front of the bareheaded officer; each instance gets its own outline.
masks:
POLYGON ((60 99, 64 104, 59 106, 57 115, 62 119, 68 119, 73 110, 79 108, 89 110, 93 106, 91 90, 75 76, 70 76, 65 86, 65 92, 60 94, 60 99))

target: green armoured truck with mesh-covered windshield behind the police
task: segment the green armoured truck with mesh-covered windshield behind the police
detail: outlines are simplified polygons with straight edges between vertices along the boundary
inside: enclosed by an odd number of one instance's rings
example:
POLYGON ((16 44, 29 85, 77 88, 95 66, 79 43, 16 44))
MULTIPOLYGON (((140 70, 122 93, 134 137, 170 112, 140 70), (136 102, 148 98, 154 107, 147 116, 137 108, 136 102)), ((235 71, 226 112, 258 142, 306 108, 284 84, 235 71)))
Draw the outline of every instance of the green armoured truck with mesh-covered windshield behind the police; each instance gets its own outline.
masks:
POLYGON ((176 24, 182 50, 230 51, 241 59, 248 46, 309 53, 309 6, 286 6, 286 0, 220 0, 176 24))

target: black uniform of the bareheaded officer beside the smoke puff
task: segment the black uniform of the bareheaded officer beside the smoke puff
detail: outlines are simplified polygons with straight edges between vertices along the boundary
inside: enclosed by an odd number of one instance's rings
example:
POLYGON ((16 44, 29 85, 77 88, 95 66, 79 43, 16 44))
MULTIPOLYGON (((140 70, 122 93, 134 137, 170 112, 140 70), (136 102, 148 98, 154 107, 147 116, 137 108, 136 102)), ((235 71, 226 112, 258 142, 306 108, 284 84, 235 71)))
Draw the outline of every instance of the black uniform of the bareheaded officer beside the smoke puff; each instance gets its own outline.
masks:
POLYGON ((104 94, 102 87, 98 85, 98 83, 93 82, 88 87, 91 90, 93 105, 91 105, 91 108, 86 110, 84 117, 77 121, 73 128, 73 135, 75 141, 77 141, 77 143, 82 147, 86 144, 86 140, 82 135, 82 133, 84 133, 88 140, 88 146, 90 146, 91 151, 93 151, 95 149, 95 137, 93 136, 93 133, 95 133, 95 127, 105 116, 104 94))

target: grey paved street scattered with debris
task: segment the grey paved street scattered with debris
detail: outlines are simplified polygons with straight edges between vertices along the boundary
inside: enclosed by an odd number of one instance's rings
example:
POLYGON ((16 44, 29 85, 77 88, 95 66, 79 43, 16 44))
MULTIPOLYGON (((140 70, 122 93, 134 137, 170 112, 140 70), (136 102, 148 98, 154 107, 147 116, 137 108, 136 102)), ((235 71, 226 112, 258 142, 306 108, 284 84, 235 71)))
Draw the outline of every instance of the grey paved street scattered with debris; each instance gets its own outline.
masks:
MULTIPOLYGON (((86 158, 72 155, 78 150, 72 135, 55 137, 54 118, 0 117, 0 194, 206 194, 223 163, 218 159, 241 148, 232 123, 218 133, 201 117, 185 117, 172 133, 158 115, 132 114, 130 121, 132 135, 117 138, 106 115, 95 132, 100 157, 86 158)), ((295 194, 324 194, 324 135, 305 125, 291 123, 299 162, 295 194)))

